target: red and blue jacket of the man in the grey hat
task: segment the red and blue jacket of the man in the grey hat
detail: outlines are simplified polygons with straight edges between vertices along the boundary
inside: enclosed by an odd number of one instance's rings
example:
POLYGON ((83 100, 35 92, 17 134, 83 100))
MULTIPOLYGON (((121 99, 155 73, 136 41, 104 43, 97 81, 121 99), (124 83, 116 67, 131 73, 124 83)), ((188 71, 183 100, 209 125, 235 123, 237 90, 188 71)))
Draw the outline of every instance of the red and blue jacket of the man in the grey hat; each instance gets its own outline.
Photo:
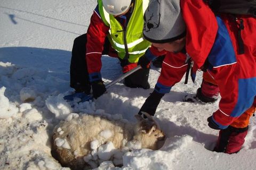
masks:
MULTIPOLYGON (((235 21, 228 14, 215 17, 198 0, 181 0, 180 5, 187 25, 187 54, 197 68, 206 59, 209 62, 207 72, 217 82, 221 95, 219 109, 212 118, 219 128, 225 129, 256 100, 256 19, 239 16, 235 21), (241 55, 238 55, 237 41, 239 19, 244 21, 245 53, 241 55)), ((169 92, 181 80, 187 69, 186 58, 181 53, 166 54, 155 90, 169 92)))

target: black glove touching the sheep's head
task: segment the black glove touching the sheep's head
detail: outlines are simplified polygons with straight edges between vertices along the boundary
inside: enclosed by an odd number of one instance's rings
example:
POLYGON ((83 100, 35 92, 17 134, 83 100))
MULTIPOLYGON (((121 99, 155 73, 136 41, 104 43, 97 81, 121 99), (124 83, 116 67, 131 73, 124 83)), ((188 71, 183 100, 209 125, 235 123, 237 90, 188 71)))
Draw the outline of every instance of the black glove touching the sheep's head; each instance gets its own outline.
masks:
POLYGON ((153 93, 151 93, 150 96, 146 99, 145 103, 142 105, 138 114, 142 115, 141 112, 147 112, 151 116, 154 116, 156 113, 156 108, 163 96, 164 94, 159 94, 154 90, 153 93))

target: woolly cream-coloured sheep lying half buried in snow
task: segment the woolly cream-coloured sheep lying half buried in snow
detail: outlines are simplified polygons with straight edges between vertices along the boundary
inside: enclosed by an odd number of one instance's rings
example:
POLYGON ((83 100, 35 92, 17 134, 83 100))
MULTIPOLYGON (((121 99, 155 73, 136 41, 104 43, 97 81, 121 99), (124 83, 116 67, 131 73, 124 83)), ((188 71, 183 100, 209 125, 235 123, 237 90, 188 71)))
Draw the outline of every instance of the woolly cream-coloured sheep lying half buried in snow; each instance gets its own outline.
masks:
POLYGON ((52 135, 55 158, 62 166, 86 169, 95 168, 105 160, 112 160, 116 166, 120 166, 123 163, 122 155, 133 149, 159 149, 158 142, 163 143, 165 135, 154 119, 144 114, 147 119, 135 115, 137 123, 87 114, 61 121, 52 135), (102 156, 100 150, 108 146, 112 148, 102 156))

